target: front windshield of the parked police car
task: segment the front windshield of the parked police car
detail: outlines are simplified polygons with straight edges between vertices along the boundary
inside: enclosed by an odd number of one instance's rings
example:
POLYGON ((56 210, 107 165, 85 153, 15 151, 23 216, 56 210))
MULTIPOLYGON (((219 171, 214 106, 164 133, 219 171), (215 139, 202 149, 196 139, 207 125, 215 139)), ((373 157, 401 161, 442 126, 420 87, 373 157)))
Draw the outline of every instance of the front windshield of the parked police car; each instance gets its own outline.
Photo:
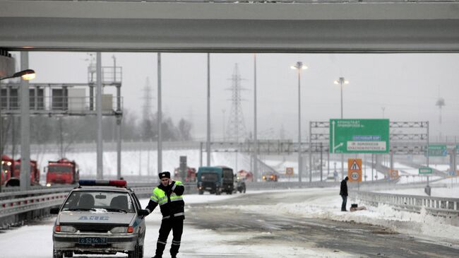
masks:
POLYGON ((73 191, 66 199, 62 211, 135 212, 129 194, 109 191, 73 191))

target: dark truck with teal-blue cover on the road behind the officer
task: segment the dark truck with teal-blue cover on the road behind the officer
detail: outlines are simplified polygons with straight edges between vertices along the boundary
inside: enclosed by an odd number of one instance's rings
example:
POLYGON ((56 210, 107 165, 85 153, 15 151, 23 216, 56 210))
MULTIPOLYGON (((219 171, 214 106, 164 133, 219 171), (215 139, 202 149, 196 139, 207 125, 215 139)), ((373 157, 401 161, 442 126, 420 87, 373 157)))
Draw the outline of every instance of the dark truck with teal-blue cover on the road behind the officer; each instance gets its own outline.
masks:
POLYGON ((226 192, 232 194, 234 191, 234 174, 232 168, 225 166, 201 167, 197 175, 198 193, 205 191, 210 194, 221 194, 226 192))

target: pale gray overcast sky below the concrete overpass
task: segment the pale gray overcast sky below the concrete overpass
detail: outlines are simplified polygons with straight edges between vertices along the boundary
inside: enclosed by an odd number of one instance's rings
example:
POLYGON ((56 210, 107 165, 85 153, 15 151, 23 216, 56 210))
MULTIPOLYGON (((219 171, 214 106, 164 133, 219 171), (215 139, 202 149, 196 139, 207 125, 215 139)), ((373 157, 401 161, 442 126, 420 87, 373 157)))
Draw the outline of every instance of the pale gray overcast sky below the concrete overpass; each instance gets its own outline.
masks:
MULTIPOLYGON (((157 109, 157 54, 102 53, 102 66, 123 67, 121 94, 124 108, 142 115, 146 78, 153 88, 153 112, 157 109)), ((30 52, 34 83, 85 83, 88 80, 88 54, 85 52, 30 52)), ((213 137, 222 137, 231 110, 234 64, 239 65, 242 103, 247 131, 254 122, 253 54, 211 54, 211 114, 213 137)), ((392 121, 431 122, 431 135, 439 134, 439 108, 443 97, 443 135, 459 135, 459 87, 455 76, 459 54, 257 54, 258 134, 297 137, 297 74, 290 69, 303 61, 302 135, 308 134, 309 121, 340 117, 340 86, 333 81, 344 76, 350 84, 343 90, 345 118, 382 118, 392 121), (273 133, 269 133, 269 132, 273 133)), ((163 111, 177 122, 181 117, 193 123, 193 136, 205 137, 206 54, 162 54, 163 111)))

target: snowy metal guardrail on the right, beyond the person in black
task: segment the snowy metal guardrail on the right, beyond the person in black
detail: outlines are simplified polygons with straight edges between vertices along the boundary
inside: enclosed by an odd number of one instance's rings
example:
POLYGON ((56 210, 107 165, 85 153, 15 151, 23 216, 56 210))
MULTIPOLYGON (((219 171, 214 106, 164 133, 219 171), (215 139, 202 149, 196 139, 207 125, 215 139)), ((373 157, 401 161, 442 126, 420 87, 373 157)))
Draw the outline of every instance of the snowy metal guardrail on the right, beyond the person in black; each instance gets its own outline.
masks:
POLYGON ((459 218, 459 199, 441 197, 423 197, 405 194, 385 194, 376 192, 351 192, 351 199, 359 199, 365 204, 378 206, 387 204, 396 209, 420 213, 425 209, 436 216, 459 218))

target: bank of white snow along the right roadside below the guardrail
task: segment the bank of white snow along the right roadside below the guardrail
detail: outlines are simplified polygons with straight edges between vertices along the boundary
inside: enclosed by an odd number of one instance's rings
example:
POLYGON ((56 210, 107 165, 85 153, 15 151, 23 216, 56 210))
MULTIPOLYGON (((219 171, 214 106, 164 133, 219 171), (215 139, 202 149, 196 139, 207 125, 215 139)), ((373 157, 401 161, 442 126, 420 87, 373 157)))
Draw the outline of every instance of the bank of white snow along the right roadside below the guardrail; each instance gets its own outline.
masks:
MULTIPOLYGON (((449 225, 444 218, 431 216, 425 211, 421 213, 395 211, 391 206, 381 205, 378 207, 366 206, 366 210, 363 211, 342 212, 340 211, 341 198, 338 195, 338 188, 297 191, 303 192, 305 199, 309 194, 316 194, 317 192, 321 192, 322 196, 297 204, 276 204, 274 207, 266 205, 244 206, 244 210, 253 213, 271 213, 273 215, 289 215, 300 218, 323 218, 333 221, 353 221, 355 223, 381 225, 398 233, 414 235, 434 242, 445 242, 447 243, 446 245, 455 245, 459 248, 459 227, 449 225)), ((285 192, 292 192, 292 190, 286 190, 285 192)), ((352 203, 357 203, 358 206, 365 206, 359 201, 348 200, 348 208, 352 203)), ((226 207, 239 209, 238 206, 226 207)))

